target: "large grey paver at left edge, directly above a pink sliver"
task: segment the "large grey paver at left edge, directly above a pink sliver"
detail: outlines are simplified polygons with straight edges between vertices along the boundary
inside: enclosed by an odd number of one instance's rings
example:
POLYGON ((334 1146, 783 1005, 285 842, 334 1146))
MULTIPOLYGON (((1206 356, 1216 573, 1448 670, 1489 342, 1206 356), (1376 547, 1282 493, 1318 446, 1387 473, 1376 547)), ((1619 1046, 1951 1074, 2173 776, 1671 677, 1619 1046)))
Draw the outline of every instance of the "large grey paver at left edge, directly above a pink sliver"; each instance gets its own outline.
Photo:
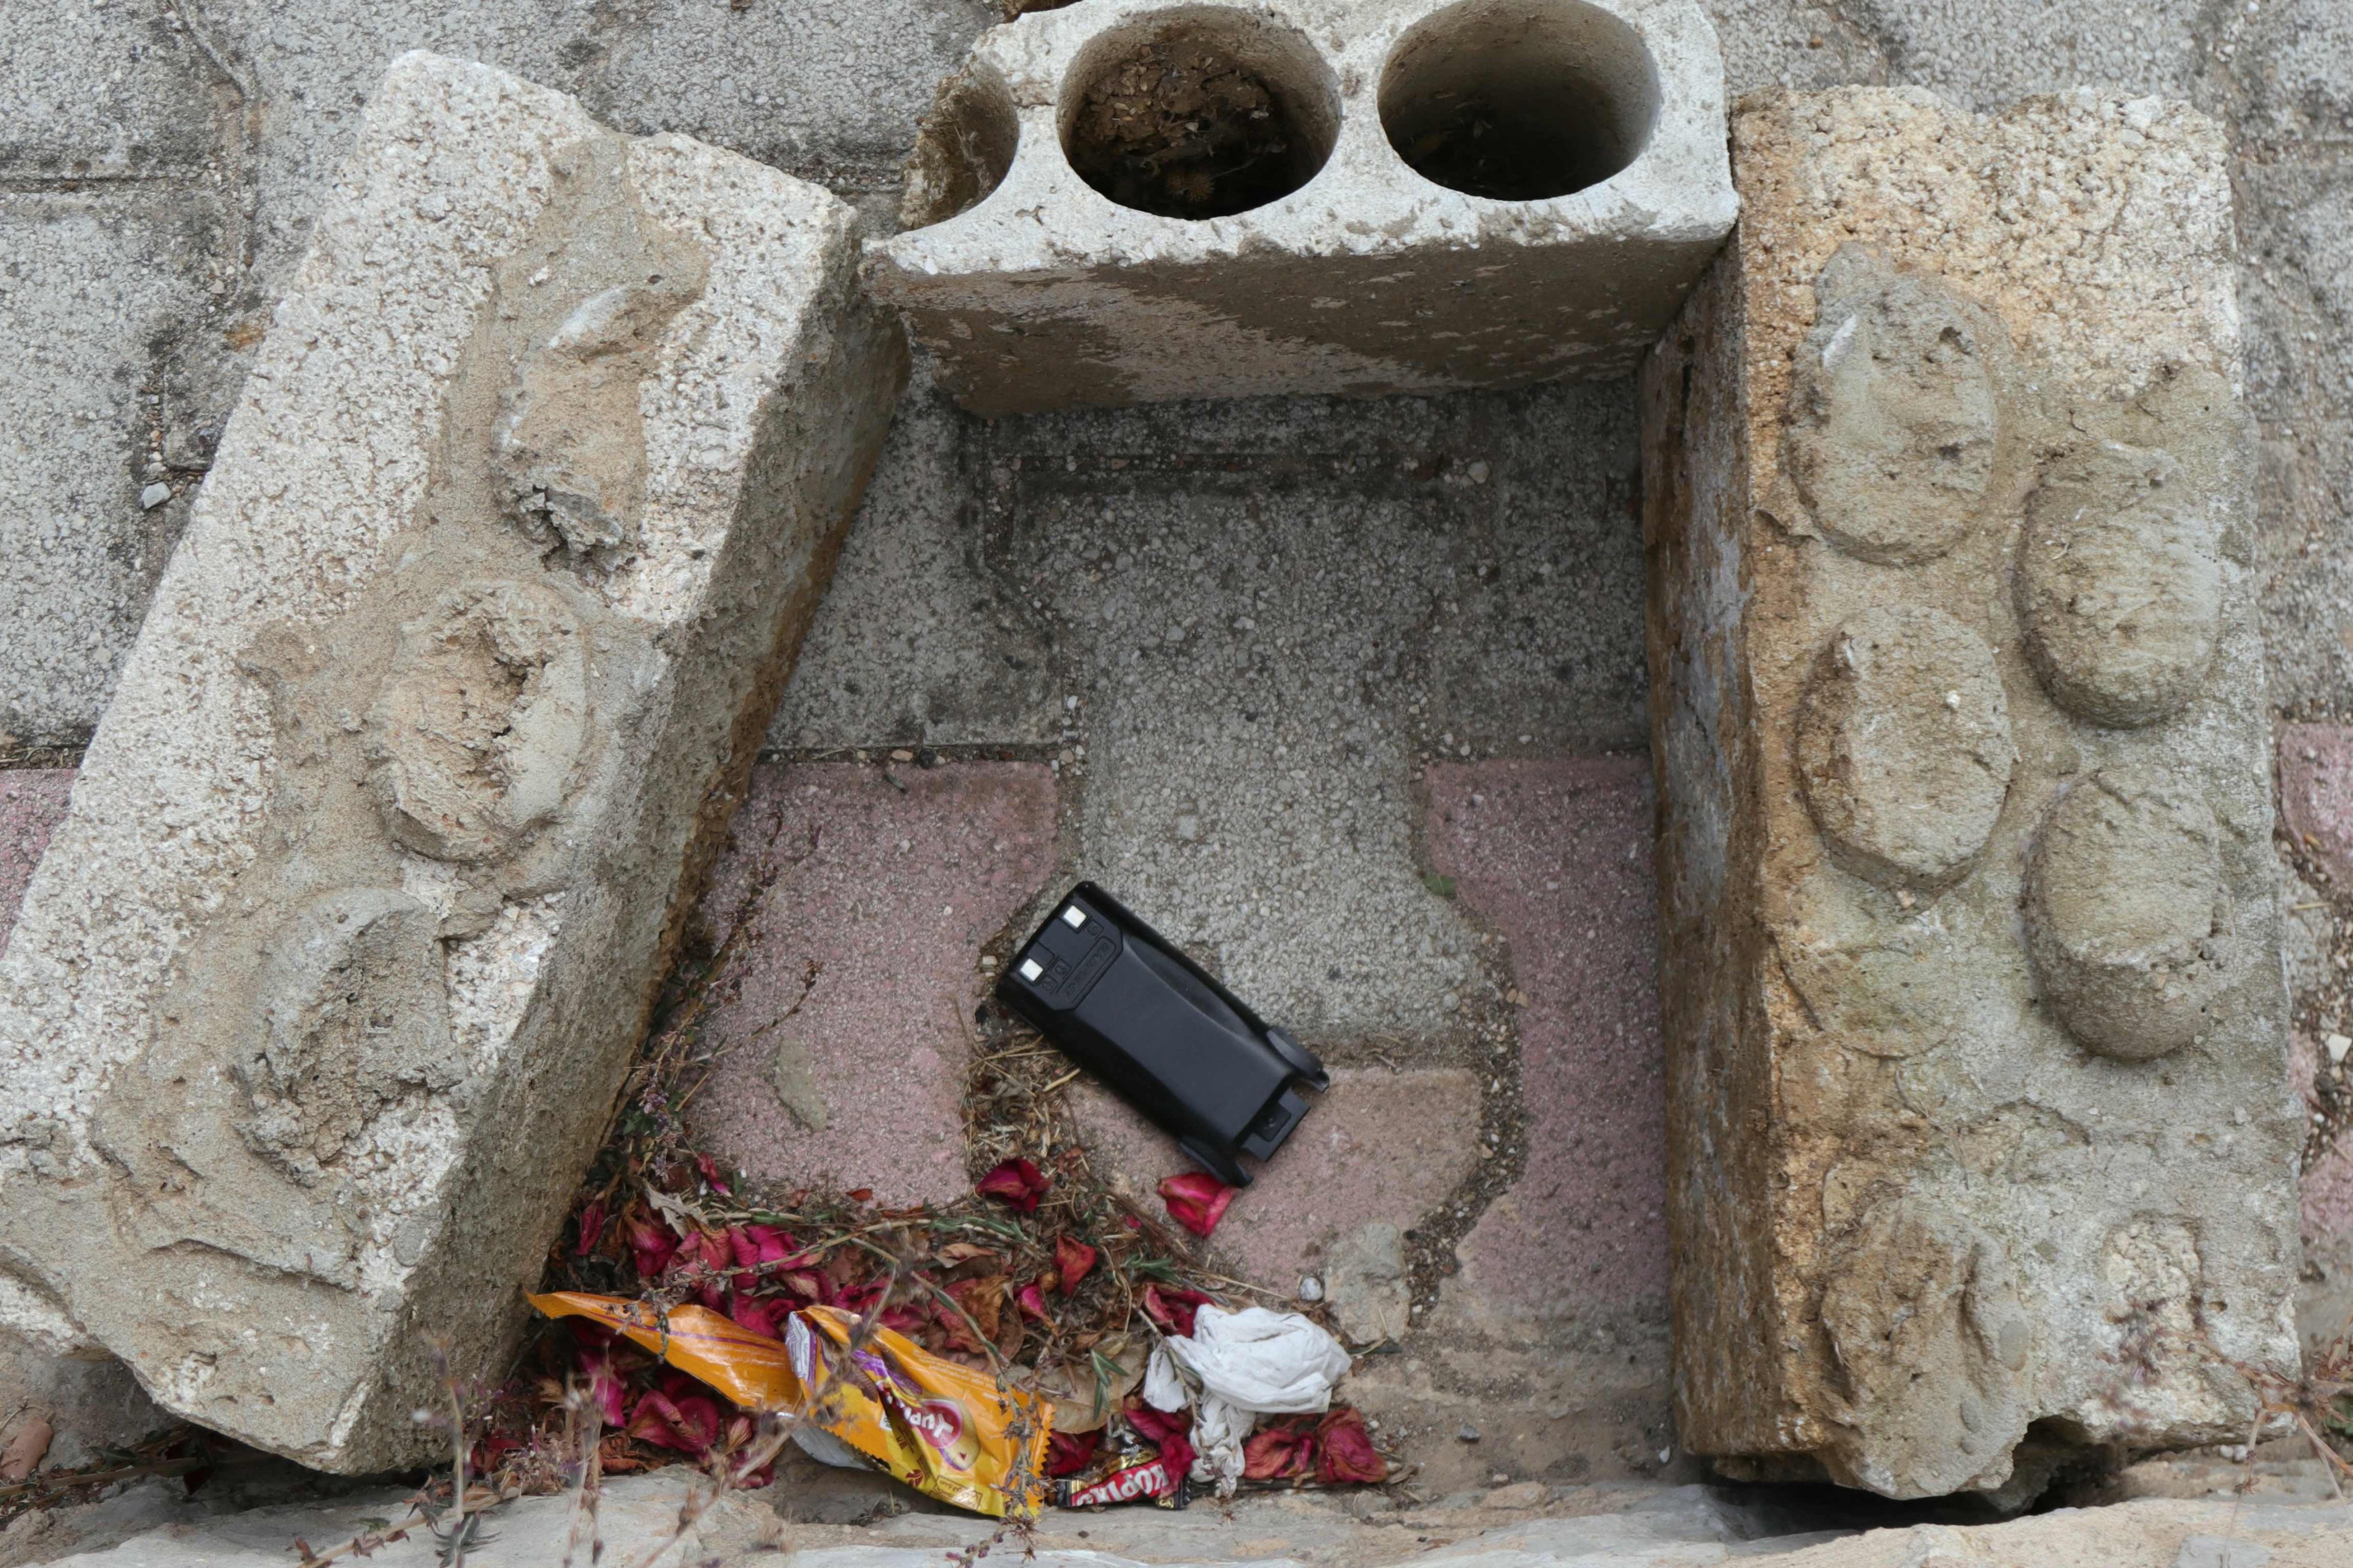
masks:
POLYGON ((155 346, 202 317, 216 209, 0 193, 0 733, 89 736, 186 503, 139 505, 155 346))

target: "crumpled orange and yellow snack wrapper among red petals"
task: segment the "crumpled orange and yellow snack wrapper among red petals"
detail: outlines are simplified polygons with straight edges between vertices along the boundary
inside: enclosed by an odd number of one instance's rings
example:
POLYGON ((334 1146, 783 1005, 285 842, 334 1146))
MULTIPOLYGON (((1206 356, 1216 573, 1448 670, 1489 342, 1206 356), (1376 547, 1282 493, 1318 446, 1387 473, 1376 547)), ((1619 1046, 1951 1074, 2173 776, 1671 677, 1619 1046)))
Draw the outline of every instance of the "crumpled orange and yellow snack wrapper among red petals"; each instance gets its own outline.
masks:
POLYGON ((941 1502, 991 1519, 1028 1519, 1045 1500, 1049 1401, 944 1361, 889 1328, 875 1328, 852 1349, 856 1319, 840 1307, 802 1307, 786 1338, 772 1340, 708 1307, 664 1314, 579 1291, 529 1302, 548 1316, 584 1316, 628 1335, 746 1410, 798 1413, 941 1502))

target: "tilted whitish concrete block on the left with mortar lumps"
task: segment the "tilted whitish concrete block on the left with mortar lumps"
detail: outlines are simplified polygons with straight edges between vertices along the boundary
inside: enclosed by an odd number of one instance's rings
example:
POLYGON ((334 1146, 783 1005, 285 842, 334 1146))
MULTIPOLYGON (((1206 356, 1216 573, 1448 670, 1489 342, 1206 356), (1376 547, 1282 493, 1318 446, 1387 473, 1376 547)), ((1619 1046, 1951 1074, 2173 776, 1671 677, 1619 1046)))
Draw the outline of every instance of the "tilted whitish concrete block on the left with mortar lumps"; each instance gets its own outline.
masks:
POLYGON ((0 959, 0 1269, 322 1469, 494 1366, 904 376, 852 214, 393 63, 0 959))

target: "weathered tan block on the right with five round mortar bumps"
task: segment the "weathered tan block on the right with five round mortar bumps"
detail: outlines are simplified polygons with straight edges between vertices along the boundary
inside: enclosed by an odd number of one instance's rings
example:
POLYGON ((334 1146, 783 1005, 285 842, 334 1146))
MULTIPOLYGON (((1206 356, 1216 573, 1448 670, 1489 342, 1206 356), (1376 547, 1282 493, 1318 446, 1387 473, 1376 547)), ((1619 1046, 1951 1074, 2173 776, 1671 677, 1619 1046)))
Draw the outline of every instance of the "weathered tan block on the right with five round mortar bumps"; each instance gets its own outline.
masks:
POLYGON ((2245 1439, 2287 1084, 2221 132, 1748 99, 1642 376, 1682 1441, 2245 1439))

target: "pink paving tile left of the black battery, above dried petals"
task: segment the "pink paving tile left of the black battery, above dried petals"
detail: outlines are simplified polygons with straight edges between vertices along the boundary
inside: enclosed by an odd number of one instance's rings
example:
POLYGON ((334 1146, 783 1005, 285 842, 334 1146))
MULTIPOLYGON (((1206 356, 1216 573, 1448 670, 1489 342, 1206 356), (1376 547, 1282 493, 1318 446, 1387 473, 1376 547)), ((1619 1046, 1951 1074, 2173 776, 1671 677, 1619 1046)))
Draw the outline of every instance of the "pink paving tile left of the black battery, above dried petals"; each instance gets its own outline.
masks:
POLYGON ((1054 872, 1054 776, 1033 762, 889 773, 904 788, 835 762, 753 776, 706 896, 722 936, 748 922, 706 1025, 727 1053, 689 1114, 755 1182, 925 1204, 967 1190, 974 964, 1054 872))

